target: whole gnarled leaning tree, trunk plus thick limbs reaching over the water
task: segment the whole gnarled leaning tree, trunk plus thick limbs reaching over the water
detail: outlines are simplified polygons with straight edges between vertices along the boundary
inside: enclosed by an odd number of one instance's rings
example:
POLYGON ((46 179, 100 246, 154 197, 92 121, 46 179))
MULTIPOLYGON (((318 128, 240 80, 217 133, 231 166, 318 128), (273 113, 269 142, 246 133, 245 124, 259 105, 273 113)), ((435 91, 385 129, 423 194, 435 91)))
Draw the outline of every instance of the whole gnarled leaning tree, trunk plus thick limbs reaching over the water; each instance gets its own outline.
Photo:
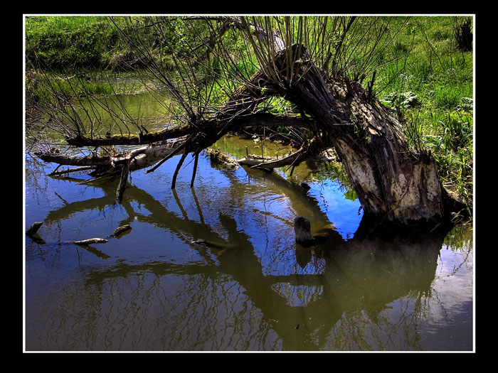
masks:
MULTIPOLYGON (((381 102, 371 97, 370 90, 348 77, 325 82, 304 45, 280 50, 275 55, 274 68, 271 76, 264 71, 255 74, 247 84, 233 92, 226 106, 211 119, 192 118, 189 126, 127 136, 127 139, 124 136, 68 139, 73 146, 144 144, 144 141, 160 140, 149 146, 119 156, 78 158, 58 153, 38 156, 43 161, 59 164, 93 166, 95 178, 121 175, 117 190, 117 201, 120 202, 127 175, 132 171, 156 164, 149 170, 154 171, 171 156, 180 153, 181 166, 187 153, 197 155, 228 131, 248 124, 301 126, 314 134, 313 146, 303 147, 280 160, 260 160, 258 163, 256 158, 246 158, 240 163, 264 168, 296 165, 325 148, 334 147, 366 215, 403 225, 448 216, 448 206, 452 203, 447 203, 449 197, 440 183, 435 159, 430 153, 415 153, 410 149, 401 124, 381 102), (289 70, 292 70, 291 74, 289 70), (275 78, 275 74, 280 75, 275 78), (275 95, 285 97, 308 117, 297 119, 255 114, 259 102, 275 95), (173 141, 164 141, 180 135, 173 141)), ((194 177, 192 183, 193 180, 194 177)))

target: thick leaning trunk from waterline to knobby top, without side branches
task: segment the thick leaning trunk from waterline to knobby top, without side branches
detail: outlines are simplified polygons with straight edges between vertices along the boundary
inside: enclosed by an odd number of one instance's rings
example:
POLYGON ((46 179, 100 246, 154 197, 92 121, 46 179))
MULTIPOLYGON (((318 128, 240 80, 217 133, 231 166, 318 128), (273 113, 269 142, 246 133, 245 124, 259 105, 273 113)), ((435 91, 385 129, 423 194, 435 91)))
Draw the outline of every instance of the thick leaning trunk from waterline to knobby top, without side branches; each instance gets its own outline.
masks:
MULTIPOLYGON (((410 150, 401 124, 366 88, 347 77, 327 85, 304 46, 291 48, 300 61, 292 80, 282 75, 283 85, 267 86, 314 119, 320 148, 334 146, 364 212, 403 225, 443 218, 447 195, 435 158, 410 150)), ((288 55, 277 54, 276 70, 287 70, 288 55)))

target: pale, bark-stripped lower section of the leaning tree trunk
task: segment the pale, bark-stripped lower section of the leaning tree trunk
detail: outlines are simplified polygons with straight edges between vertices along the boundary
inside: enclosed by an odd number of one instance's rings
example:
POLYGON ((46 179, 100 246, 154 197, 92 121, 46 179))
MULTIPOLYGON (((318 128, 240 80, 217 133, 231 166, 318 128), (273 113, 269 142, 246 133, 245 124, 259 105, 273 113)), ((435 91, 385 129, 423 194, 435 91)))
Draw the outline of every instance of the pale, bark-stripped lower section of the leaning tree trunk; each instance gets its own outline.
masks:
POLYGON ((332 124, 330 139, 364 212, 403 223, 443 217, 443 187, 435 158, 411 151, 401 124, 378 100, 369 98, 364 87, 350 82, 333 90, 342 103, 341 112, 354 124, 332 124))

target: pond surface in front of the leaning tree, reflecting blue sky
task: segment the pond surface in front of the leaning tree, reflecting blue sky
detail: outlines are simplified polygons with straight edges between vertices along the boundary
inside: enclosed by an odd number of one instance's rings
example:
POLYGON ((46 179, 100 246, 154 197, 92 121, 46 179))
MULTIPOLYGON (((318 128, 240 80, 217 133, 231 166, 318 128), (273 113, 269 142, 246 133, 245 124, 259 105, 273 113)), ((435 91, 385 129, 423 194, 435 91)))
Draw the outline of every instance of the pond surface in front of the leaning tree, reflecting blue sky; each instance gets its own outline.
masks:
MULTIPOLYGON (((241 158, 262 145, 215 147, 241 158)), ((117 205, 118 180, 81 185, 26 156, 26 229, 43 222, 44 241, 25 237, 26 351, 474 349, 472 227, 360 238, 359 201, 319 163, 290 175, 201 156, 190 188, 188 157, 171 190, 178 160, 132 173, 117 205), (296 244, 297 215, 332 225, 329 239, 296 244), (108 242, 69 243, 92 237, 108 242)))

